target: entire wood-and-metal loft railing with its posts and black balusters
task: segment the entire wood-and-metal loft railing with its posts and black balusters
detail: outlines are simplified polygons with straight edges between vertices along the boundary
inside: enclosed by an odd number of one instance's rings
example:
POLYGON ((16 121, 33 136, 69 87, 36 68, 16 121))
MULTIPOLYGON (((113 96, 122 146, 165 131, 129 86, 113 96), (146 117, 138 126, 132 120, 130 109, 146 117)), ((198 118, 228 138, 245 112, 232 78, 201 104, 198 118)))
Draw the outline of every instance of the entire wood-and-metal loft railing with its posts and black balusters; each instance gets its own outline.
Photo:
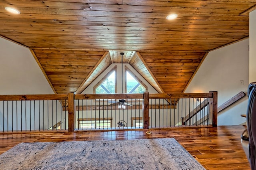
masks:
POLYGON ((144 94, 0 95, 0 131, 2 132, 149 129, 208 125, 217 126, 217 92, 215 91, 181 94, 145 92, 144 94), (120 99, 125 100, 125 108, 118 108, 120 99), (203 105, 201 101, 207 104, 203 105))

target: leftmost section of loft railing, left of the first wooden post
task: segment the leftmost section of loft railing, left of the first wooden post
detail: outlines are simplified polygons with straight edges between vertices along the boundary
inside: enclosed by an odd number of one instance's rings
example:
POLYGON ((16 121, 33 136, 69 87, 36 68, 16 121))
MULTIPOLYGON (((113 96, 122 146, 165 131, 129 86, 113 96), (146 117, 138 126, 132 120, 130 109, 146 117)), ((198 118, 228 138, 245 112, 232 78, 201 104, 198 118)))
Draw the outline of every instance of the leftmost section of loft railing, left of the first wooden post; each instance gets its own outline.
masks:
MULTIPOLYGON (((67 101, 67 94, 0 95, 0 131, 54 130, 51 127, 68 119, 61 105, 67 101)), ((67 128, 60 123, 60 129, 67 128)))

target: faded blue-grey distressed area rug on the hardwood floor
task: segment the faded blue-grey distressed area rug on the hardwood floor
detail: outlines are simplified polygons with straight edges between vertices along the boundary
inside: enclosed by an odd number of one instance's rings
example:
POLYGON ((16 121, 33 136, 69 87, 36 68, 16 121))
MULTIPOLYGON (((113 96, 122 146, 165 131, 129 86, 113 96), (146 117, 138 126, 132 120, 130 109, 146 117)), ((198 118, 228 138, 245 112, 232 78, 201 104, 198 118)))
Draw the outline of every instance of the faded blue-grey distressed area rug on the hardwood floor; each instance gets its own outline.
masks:
POLYGON ((204 170, 174 138, 20 143, 1 170, 204 170))

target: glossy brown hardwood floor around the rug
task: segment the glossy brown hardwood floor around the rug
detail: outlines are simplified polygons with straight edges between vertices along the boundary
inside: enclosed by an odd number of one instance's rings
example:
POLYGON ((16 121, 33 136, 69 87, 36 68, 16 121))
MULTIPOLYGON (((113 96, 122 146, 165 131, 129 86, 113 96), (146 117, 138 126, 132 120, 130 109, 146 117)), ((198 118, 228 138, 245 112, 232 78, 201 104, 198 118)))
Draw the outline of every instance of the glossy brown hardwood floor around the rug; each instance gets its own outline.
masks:
POLYGON ((207 170, 250 170, 240 135, 246 127, 166 128, 118 131, 27 132, 0 134, 0 154, 21 142, 175 138, 207 170))

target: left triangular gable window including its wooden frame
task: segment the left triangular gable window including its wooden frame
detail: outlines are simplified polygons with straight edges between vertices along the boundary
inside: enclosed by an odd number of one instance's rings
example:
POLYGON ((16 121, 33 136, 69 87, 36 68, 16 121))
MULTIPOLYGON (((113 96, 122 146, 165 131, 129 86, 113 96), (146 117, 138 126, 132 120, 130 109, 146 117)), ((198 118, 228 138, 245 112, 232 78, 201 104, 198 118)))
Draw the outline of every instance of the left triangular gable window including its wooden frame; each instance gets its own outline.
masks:
POLYGON ((108 74, 102 78, 97 85, 94 86, 94 93, 96 94, 114 94, 116 93, 116 67, 114 67, 108 74))

